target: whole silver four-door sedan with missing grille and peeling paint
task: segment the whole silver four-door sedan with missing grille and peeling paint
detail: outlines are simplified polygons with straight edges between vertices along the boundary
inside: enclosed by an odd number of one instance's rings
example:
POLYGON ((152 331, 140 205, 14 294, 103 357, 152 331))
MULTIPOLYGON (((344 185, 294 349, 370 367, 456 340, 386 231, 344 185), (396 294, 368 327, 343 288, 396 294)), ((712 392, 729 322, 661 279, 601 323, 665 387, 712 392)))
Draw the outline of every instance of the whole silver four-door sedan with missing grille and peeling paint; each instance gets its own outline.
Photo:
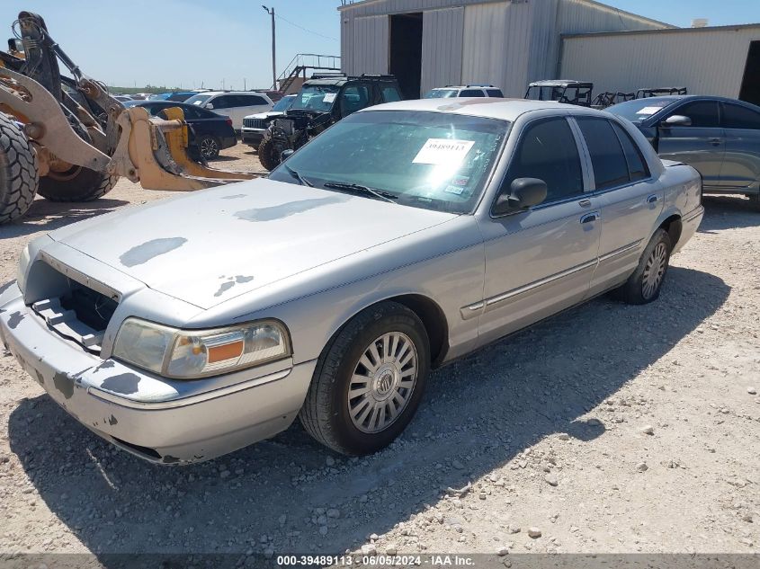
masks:
POLYGON ((68 413, 148 460, 217 457, 296 416, 369 453, 430 369, 607 290, 657 298, 701 191, 602 111, 384 104, 268 179, 34 240, 0 336, 68 413))

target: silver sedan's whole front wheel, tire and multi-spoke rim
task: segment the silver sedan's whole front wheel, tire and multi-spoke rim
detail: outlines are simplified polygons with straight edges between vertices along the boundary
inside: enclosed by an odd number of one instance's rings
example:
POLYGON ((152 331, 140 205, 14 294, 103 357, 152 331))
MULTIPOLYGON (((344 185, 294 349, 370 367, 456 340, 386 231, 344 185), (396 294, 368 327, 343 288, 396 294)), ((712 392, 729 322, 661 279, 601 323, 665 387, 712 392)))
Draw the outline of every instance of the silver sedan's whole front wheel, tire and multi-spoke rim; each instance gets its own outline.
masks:
POLYGON ((429 370, 430 344, 419 317, 396 302, 367 308, 320 356, 300 422, 338 452, 376 452, 412 420, 429 370))

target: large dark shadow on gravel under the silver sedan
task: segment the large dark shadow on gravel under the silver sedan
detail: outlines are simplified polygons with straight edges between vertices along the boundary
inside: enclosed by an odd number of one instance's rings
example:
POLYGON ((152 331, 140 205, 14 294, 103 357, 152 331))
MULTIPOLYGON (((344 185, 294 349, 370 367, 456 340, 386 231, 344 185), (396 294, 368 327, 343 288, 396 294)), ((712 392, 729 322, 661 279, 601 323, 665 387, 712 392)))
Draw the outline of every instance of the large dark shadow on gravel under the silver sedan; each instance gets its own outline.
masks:
POLYGON ((568 433, 557 443, 582 445, 621 428, 595 407, 728 296, 720 278, 672 267, 657 302, 597 298, 491 344, 436 370, 407 431, 367 458, 335 455, 295 424, 227 457, 159 467, 48 396, 13 410, 10 445, 49 510, 106 566, 119 553, 340 553, 514 458, 509 468, 523 467, 539 440, 568 433), (338 514, 320 521, 328 508, 338 514))

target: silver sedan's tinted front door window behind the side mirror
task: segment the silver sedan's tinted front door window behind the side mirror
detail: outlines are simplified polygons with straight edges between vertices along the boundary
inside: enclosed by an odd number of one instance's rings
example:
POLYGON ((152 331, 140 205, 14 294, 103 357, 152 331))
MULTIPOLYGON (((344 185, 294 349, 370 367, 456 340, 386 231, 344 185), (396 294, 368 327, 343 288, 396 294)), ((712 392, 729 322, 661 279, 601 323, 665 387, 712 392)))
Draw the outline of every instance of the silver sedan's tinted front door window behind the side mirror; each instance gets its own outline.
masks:
POLYGON ((526 127, 505 182, 512 183, 517 178, 546 182, 547 203, 583 193, 576 139, 564 117, 537 120, 526 127))

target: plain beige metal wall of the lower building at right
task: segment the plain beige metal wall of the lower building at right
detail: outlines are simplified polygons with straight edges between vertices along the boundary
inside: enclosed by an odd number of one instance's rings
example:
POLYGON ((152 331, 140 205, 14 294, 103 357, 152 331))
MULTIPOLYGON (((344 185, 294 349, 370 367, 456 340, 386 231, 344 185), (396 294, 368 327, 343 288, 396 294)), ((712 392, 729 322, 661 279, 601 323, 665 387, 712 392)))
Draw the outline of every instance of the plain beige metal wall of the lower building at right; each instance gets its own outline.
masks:
POLYGON ((737 98, 751 40, 760 26, 566 38, 562 75, 593 81, 595 93, 677 85, 737 98))

